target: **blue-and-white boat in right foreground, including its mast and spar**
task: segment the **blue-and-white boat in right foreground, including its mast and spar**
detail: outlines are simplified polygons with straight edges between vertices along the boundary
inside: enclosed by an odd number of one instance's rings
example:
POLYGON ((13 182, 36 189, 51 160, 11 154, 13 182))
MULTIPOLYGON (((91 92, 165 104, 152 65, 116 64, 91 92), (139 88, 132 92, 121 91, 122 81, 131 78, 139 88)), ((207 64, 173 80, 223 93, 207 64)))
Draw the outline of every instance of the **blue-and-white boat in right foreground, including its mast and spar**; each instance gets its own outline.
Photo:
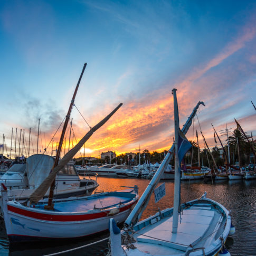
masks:
MULTIPOLYGON (((163 163, 151 179, 144 194, 127 218, 122 232, 110 220, 110 241, 112 256, 120 255, 216 255, 224 246, 230 233, 231 217, 224 206, 209 198, 206 193, 200 198, 180 204, 180 160, 185 155, 188 141, 185 134, 191 126, 198 102, 182 130, 178 124, 178 106, 176 89, 174 95, 175 145, 168 151, 163 163), (175 149, 175 188, 174 207, 139 221, 151 193, 159 182, 166 164, 172 158, 175 149), (121 247, 122 236, 122 247, 121 247)), ((191 146, 191 145, 190 145, 191 146)), ((156 189, 155 189, 156 190, 156 189)), ((156 194, 156 193, 155 193, 156 194)))

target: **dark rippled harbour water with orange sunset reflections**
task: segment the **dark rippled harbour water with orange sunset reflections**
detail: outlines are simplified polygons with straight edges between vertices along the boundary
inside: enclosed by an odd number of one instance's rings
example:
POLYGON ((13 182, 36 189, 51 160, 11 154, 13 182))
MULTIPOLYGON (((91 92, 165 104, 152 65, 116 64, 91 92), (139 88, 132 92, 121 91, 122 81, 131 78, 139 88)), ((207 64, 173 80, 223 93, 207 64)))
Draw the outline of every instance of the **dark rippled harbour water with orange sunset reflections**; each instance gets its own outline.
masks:
MULTIPOLYGON (((98 178, 99 191, 115 191, 124 189, 121 186, 139 186, 141 195, 148 184, 146 179, 98 178)), ((159 184, 161 184, 160 182, 159 184)), ((173 181, 166 181, 166 196, 158 203, 151 197, 149 205, 143 214, 143 219, 158 211, 173 206, 173 181)), ((182 202, 193 200, 207 192, 207 197, 216 200, 231 211, 232 223, 236 232, 228 238, 226 246, 231 255, 256 255, 256 180, 223 181, 217 184, 205 184, 203 181, 182 182, 182 202)), ((50 232, 50 231, 49 231, 50 232)), ((68 232, 68 231, 67 231, 68 232)), ((60 242, 39 242, 10 245, 5 232, 4 222, 0 221, 0 255, 45 255, 69 250, 88 244, 108 236, 108 232, 98 234, 88 239, 75 239, 60 242)), ((60 255, 106 255, 107 242, 98 243, 88 248, 60 255)))

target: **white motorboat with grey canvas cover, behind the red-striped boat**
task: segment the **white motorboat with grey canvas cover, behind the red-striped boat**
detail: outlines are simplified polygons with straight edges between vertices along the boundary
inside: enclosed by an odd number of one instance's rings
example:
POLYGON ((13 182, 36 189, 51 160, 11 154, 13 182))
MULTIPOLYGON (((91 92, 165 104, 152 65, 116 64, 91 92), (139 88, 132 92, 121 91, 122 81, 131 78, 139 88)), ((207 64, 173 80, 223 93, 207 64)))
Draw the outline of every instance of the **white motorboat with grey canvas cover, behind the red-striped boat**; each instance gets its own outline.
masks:
MULTIPOLYGON (((7 187, 8 197, 16 200, 29 198, 49 175, 53 162, 52 156, 36 154, 27 158, 26 164, 13 165, 0 181, 7 187)), ((90 195, 98 186, 91 177, 80 179, 73 163, 69 163, 56 175, 54 198, 90 195)), ((48 195, 49 191, 45 197, 48 195)))

